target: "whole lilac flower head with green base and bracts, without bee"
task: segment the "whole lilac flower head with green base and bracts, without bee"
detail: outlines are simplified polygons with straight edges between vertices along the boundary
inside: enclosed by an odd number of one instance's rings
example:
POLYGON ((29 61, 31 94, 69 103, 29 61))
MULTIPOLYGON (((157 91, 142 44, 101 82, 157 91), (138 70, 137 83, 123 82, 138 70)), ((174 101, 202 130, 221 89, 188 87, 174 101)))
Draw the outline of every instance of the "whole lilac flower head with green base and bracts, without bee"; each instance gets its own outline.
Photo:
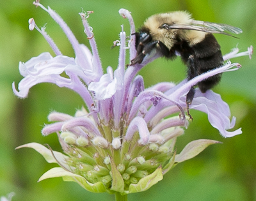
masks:
MULTIPOLYGON (((115 193, 116 200, 128 193, 148 190, 163 179, 172 167, 193 158, 205 147, 218 143, 214 140, 195 140, 181 153, 176 154, 177 137, 188 127, 186 117, 186 94, 191 86, 201 80, 237 70, 240 64, 230 61, 192 80, 183 80, 176 85, 161 82, 148 89, 144 88, 143 77, 137 75, 145 64, 159 57, 155 55, 141 64, 129 66, 125 70, 125 52, 129 49, 130 60, 136 56, 135 27, 129 11, 120 9, 122 17, 131 25, 129 41, 122 30, 120 40, 115 45, 120 48, 118 66, 115 71, 109 66, 103 74, 92 28, 87 19, 92 12, 79 13, 84 33, 90 41, 91 50, 79 44, 74 34, 61 17, 51 8, 45 8, 52 19, 67 34, 74 48, 75 58, 63 56, 59 48, 45 32, 39 29, 34 19, 29 19, 29 29, 36 28, 47 40, 56 56, 44 52, 32 57, 26 63, 20 62, 19 91, 13 83, 13 92, 20 98, 28 96, 29 89, 38 83, 51 82, 59 87, 67 87, 78 93, 84 100, 84 107, 76 115, 51 112, 51 124, 44 126, 42 134, 57 133, 63 153, 52 151, 37 143, 20 147, 31 147, 44 156, 49 163, 58 163, 45 172, 39 181, 51 177, 63 177, 64 181, 75 181, 92 192, 115 193), (66 73, 68 77, 62 77, 66 73)), ((252 55, 252 47, 247 52, 237 54, 234 50, 225 60, 236 56, 252 55)), ((195 90, 191 109, 207 113, 209 122, 223 137, 241 134, 241 128, 228 131, 235 125, 230 121, 230 110, 219 94, 211 90, 201 93, 195 90)), ((20 148, 17 147, 17 148, 20 148)))

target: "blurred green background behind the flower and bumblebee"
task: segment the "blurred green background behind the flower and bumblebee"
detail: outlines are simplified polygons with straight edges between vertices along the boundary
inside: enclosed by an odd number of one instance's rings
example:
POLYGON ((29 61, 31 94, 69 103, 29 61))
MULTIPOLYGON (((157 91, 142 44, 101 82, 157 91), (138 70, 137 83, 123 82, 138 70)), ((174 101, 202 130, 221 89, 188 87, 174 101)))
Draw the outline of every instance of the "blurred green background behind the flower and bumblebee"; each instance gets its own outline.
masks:
MULTIPOLYGON (((41 8, 35 8, 33 0, 0 2, 0 195, 15 191, 13 200, 114 200, 112 195, 84 191, 74 182, 62 179, 36 181, 54 165, 48 164, 32 149, 15 151, 18 145, 28 142, 49 144, 60 150, 56 135, 42 137, 40 131, 47 123, 50 111, 74 115, 81 108, 81 98, 68 89, 52 84, 39 84, 31 89, 28 98, 20 100, 12 92, 12 82, 17 86, 19 61, 52 50, 37 31, 29 31, 28 19, 33 17, 38 26, 47 23, 47 33, 54 39, 61 52, 74 57, 71 45, 60 27, 41 8)), ((120 8, 132 12, 138 28, 150 15, 166 11, 188 10, 196 20, 219 22, 243 29, 239 39, 216 34, 223 54, 234 47, 247 50, 256 41, 256 5, 252 0, 215 1, 148 1, 148 0, 41 0, 44 6, 56 10, 67 22, 80 43, 88 45, 78 13, 93 10, 88 19, 99 47, 104 69, 118 63, 118 48, 111 50, 118 40, 120 25, 129 33, 129 24, 118 14, 120 8)), ((53 55, 53 54, 52 54, 53 55)), ((192 160, 179 164, 150 190, 129 195, 129 200, 256 200, 256 59, 238 57, 239 71, 224 73, 221 84, 214 88, 230 105, 237 117, 236 129, 243 134, 223 138, 211 127, 207 115, 191 110, 194 121, 185 135, 179 137, 178 152, 191 140, 209 138, 223 144, 212 145, 192 160)), ((128 63, 129 61, 127 61, 128 63)), ((140 71, 145 86, 157 82, 178 83, 185 77, 186 67, 180 62, 157 59, 140 71)))

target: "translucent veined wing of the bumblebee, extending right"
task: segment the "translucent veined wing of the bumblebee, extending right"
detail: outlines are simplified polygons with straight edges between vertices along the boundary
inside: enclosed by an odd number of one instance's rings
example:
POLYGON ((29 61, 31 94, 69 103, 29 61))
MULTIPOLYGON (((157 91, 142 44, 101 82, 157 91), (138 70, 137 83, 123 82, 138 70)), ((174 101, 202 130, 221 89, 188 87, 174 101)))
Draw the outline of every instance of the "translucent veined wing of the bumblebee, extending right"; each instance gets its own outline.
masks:
POLYGON ((239 29, 238 27, 233 27, 227 24, 204 22, 199 20, 192 20, 191 24, 173 24, 166 27, 168 27, 168 29, 188 29, 188 30, 204 31, 207 33, 220 33, 228 36, 232 36, 232 35, 229 33, 226 33, 225 31, 228 31, 234 34, 239 34, 243 32, 242 29, 239 29))

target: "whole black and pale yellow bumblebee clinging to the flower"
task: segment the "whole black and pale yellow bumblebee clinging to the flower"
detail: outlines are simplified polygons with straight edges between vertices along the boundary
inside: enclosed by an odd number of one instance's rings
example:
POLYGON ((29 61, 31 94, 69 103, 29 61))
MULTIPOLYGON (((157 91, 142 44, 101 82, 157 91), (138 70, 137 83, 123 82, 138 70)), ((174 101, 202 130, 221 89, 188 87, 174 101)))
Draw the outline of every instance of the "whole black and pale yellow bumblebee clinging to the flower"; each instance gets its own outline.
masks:
MULTIPOLYGON (((217 24, 194 20, 186 11, 173 11, 152 15, 145 20, 136 35, 137 54, 131 64, 143 63, 144 59, 160 54, 167 59, 175 59, 177 54, 188 66, 188 80, 218 68, 223 65, 223 56, 220 45, 213 33, 239 34, 242 30, 227 24, 217 24)), ((233 36, 234 37, 234 36, 233 36)), ((236 37, 234 37, 236 38, 236 37)), ((205 93, 208 89, 220 82, 221 74, 209 77, 197 86, 205 93)), ((191 87, 186 96, 189 114, 189 105, 193 100, 195 88, 191 87)))

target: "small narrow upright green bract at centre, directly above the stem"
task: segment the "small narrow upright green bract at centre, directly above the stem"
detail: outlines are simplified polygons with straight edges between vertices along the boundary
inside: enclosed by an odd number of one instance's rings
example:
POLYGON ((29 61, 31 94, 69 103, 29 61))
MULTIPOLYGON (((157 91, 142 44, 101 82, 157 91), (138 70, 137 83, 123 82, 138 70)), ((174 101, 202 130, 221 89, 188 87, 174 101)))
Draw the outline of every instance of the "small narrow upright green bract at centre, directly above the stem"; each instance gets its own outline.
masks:
POLYGON ((111 165, 111 172, 112 172, 112 186, 111 190, 112 191, 118 191, 120 193, 124 192, 124 179, 120 172, 117 170, 115 161, 113 158, 110 158, 110 165, 111 165))

